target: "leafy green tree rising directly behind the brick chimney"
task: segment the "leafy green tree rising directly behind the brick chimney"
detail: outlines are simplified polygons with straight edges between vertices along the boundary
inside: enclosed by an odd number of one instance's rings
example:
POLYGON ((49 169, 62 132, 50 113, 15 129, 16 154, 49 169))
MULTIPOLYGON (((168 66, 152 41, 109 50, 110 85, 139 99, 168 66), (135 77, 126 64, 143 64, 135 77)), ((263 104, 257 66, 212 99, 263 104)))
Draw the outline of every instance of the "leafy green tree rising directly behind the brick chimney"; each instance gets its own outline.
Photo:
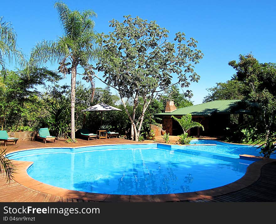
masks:
POLYGON ((173 99, 174 105, 177 108, 189 107, 193 103, 187 98, 186 94, 180 93, 177 86, 171 86, 169 89, 165 90, 164 95, 160 95, 158 99, 163 103, 163 112, 165 111, 167 101, 173 99))

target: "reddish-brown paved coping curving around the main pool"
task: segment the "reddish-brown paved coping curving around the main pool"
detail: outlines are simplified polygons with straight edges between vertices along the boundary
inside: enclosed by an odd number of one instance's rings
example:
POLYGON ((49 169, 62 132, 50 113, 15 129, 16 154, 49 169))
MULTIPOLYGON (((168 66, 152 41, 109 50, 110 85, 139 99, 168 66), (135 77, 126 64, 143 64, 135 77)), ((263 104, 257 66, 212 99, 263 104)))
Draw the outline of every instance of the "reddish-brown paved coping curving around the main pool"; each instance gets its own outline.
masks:
MULTIPOLYGON (((107 145, 118 145, 118 144, 102 144, 97 146, 107 146, 107 145)), ((86 147, 90 147, 90 146, 86 146, 86 147)), ((53 147, 43 147, 43 148, 53 148, 53 147)), ((82 147, 54 147, 54 148, 82 148, 82 147)), ((39 149, 39 148, 18 150, 18 151, 13 151, 12 153, 25 151, 25 150, 32 150, 32 149, 39 149)), ((186 192, 186 193, 159 194, 159 195, 113 195, 113 194, 100 194, 100 193, 90 193, 90 192, 77 191, 77 190, 68 190, 65 188, 48 185, 38 180, 34 180, 27 173, 27 169, 33 164, 33 162, 19 161, 19 160, 13 160, 13 164, 17 168, 17 173, 14 175, 13 179, 20 185, 23 185, 27 188, 37 190, 46 194, 57 195, 57 196, 73 198, 73 199, 81 199, 86 201, 98 201, 98 202, 190 201, 190 200, 211 198, 219 195, 225 195, 225 194, 246 188, 252 185, 254 182, 256 182, 259 179, 259 177, 261 176, 261 168, 264 165, 276 161, 276 159, 263 158, 263 157, 246 155, 246 154, 240 155, 240 158, 257 160, 256 162, 253 162, 247 167, 245 175, 243 175, 240 179, 220 187, 215 187, 207 190, 194 191, 194 192, 186 192)))

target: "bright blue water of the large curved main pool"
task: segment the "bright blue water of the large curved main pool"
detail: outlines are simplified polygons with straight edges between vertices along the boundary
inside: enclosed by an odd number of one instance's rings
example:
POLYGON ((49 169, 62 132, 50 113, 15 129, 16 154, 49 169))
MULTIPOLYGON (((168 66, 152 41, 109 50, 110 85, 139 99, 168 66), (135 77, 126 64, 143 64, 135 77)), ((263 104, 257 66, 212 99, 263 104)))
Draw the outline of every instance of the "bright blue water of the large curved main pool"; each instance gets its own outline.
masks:
POLYGON ((227 154, 182 149, 163 144, 109 145, 34 149, 8 157, 33 161, 27 170, 29 176, 49 185, 125 195, 219 187, 241 178, 253 162, 227 154))

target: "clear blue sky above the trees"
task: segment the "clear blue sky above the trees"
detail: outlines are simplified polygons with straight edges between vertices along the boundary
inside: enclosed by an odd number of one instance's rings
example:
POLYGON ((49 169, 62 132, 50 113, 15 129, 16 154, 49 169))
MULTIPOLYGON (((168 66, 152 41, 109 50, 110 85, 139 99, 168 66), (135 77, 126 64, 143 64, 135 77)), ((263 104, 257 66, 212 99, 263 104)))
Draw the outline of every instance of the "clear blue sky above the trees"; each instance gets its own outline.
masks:
MULTIPOLYGON (((18 46, 26 55, 39 41, 55 40, 62 35, 56 1, 2 1, 0 16, 12 22, 18 36, 18 46)), ((276 2, 275 1, 91 1, 64 0, 71 10, 92 9, 95 30, 107 33, 109 20, 123 21, 123 15, 139 16, 170 31, 170 37, 184 32, 186 37, 198 40, 198 49, 204 58, 195 71, 201 79, 189 89, 194 104, 208 94, 206 88, 216 82, 231 79, 235 71, 228 65, 238 60, 239 54, 252 54, 259 62, 276 62, 276 2)), ((53 69, 56 69, 54 66, 53 69)), ((77 80, 81 80, 78 77, 77 80)), ((70 85, 70 77, 65 80, 70 85)), ((103 85, 96 81, 97 87, 103 85)))

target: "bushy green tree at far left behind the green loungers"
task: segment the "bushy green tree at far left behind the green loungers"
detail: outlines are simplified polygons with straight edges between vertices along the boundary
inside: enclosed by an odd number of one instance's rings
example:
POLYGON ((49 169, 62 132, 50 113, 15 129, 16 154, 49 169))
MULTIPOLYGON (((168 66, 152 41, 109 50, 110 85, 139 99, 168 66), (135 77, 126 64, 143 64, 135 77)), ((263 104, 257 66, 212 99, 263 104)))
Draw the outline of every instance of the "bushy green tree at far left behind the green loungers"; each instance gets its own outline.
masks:
POLYGON ((33 70, 31 74, 23 71, 8 71, 6 78, 0 76, 0 125, 1 129, 17 131, 18 127, 35 126, 43 105, 38 96, 37 86, 46 81, 60 79, 55 72, 45 68, 33 70))

